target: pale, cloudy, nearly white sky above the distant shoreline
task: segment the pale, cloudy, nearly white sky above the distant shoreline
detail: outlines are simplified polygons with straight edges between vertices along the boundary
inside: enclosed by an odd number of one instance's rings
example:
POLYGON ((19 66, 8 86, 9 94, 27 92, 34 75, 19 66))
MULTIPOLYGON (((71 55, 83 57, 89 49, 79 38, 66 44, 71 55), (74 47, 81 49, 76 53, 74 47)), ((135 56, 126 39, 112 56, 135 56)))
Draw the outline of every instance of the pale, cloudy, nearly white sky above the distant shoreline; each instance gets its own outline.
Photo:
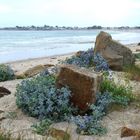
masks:
POLYGON ((140 26, 140 0, 0 0, 0 27, 140 26))

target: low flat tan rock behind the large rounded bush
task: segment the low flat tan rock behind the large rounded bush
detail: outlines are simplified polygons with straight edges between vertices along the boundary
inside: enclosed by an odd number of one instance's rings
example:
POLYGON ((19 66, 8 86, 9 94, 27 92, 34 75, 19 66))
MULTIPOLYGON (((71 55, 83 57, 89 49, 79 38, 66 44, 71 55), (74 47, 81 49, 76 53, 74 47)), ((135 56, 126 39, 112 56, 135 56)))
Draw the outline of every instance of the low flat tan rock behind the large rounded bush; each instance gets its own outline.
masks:
POLYGON ((33 68, 28 69, 27 71, 24 72, 24 75, 26 77, 32 77, 35 76, 37 74, 39 74, 41 71, 45 70, 45 66, 43 65, 37 65, 33 68))

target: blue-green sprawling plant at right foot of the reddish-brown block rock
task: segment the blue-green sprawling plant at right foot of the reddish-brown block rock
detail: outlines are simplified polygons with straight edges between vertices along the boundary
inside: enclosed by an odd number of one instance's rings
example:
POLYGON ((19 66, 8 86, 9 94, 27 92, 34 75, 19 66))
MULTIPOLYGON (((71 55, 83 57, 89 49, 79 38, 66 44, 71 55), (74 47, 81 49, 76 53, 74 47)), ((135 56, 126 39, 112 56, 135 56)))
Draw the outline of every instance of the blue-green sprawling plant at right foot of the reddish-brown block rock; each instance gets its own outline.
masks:
POLYGON ((102 126, 100 120, 106 114, 107 108, 112 102, 112 98, 108 92, 97 93, 95 104, 90 106, 90 111, 84 116, 76 116, 72 118, 77 124, 77 132, 84 135, 103 135, 107 132, 102 126))

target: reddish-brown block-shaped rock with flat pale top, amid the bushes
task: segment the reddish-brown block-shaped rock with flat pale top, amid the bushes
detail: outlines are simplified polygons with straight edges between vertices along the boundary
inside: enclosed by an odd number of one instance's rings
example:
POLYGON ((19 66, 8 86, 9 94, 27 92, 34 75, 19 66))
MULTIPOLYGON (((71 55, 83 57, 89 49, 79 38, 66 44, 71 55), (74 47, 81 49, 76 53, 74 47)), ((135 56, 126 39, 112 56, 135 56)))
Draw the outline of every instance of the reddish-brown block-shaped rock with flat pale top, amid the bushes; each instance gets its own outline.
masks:
POLYGON ((96 101, 102 74, 73 65, 61 65, 56 81, 58 87, 69 86, 72 91, 71 102, 85 112, 96 101))

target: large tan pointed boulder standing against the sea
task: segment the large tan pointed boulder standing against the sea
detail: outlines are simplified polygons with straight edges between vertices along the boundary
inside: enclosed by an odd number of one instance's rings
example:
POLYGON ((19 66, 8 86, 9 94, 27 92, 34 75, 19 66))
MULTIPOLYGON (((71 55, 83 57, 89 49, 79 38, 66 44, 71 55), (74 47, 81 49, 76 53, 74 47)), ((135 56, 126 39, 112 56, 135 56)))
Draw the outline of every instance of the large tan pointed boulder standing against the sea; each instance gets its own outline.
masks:
POLYGON ((134 63, 132 51, 103 31, 96 38, 94 52, 100 53, 113 70, 122 70, 123 66, 134 63))

